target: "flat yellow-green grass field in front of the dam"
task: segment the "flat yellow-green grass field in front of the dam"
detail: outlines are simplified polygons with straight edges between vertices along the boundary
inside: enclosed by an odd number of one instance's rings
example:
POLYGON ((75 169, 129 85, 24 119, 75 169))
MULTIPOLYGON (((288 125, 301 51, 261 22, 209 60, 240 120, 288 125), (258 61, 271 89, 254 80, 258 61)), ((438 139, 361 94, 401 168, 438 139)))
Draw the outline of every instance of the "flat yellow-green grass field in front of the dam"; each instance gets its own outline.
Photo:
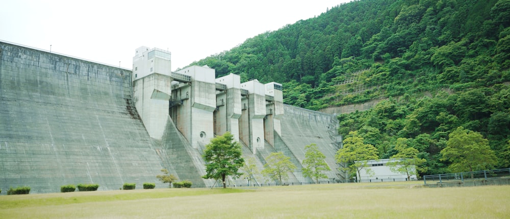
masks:
POLYGON ((510 186, 349 183, 0 196, 0 218, 510 218, 510 186))

